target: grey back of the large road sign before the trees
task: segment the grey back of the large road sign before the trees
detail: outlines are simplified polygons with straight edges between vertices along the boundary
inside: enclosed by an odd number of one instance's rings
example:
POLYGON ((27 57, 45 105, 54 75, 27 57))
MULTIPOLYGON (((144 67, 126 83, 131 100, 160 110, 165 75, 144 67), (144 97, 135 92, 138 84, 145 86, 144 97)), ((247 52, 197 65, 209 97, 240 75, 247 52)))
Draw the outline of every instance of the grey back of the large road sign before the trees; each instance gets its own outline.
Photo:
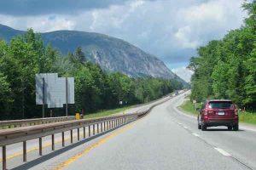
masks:
POLYGON ((36 75, 37 105, 43 105, 43 79, 45 105, 49 108, 60 108, 66 104, 66 99, 67 104, 74 104, 74 78, 68 77, 66 86, 66 77, 58 77, 57 73, 43 73, 36 75))

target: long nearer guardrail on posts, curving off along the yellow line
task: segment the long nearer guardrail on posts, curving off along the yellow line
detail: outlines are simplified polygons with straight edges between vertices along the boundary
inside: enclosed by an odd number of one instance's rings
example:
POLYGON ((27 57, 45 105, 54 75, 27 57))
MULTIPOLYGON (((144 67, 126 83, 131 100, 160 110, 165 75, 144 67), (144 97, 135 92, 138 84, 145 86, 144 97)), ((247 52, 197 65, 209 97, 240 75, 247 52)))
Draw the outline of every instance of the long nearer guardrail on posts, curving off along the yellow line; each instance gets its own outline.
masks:
POLYGON ((55 150, 55 133, 61 133, 62 146, 65 146, 65 132, 70 131, 71 144, 73 144, 73 130, 77 129, 77 138, 80 140, 80 129, 83 129, 84 139, 86 137, 85 127, 88 128, 88 136, 102 133, 113 128, 120 127, 126 123, 136 121, 150 112, 154 106, 166 102, 168 99, 155 105, 151 105, 147 111, 132 113, 129 115, 106 116, 95 119, 81 119, 67 122, 55 122, 31 127, 17 127, 13 129, 0 130, 0 146, 2 146, 3 170, 7 169, 6 145, 23 143, 23 161, 26 161, 26 141, 38 139, 39 156, 43 155, 42 138, 51 135, 51 149, 55 150))

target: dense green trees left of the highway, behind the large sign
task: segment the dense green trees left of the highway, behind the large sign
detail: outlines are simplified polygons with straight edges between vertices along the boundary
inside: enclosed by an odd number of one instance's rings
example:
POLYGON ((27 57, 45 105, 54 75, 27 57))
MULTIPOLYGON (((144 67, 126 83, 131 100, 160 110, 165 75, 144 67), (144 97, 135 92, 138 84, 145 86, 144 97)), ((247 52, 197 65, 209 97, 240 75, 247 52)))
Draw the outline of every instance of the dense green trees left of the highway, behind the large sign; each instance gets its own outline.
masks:
MULTIPOLYGON (((69 110, 72 114, 82 109, 90 113, 119 107, 119 101, 140 104, 182 88, 181 82, 174 80, 106 73, 91 64, 81 48, 63 56, 50 45, 45 47, 40 35, 30 29, 9 43, 0 41, 0 119, 41 116, 42 106, 35 103, 35 74, 45 72, 75 78, 75 105, 69 110)), ((64 109, 55 109, 54 113, 64 115, 64 109)))

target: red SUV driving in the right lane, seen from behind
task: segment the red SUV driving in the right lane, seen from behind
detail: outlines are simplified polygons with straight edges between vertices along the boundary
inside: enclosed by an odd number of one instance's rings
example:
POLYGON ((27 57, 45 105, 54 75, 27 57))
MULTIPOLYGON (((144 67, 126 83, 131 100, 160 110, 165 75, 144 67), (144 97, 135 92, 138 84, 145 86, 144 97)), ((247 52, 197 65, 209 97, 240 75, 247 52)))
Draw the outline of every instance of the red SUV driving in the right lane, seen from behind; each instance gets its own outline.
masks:
POLYGON ((231 100, 211 99, 202 106, 197 116, 198 129, 207 130, 207 127, 227 126, 229 130, 237 131, 238 110, 231 100))

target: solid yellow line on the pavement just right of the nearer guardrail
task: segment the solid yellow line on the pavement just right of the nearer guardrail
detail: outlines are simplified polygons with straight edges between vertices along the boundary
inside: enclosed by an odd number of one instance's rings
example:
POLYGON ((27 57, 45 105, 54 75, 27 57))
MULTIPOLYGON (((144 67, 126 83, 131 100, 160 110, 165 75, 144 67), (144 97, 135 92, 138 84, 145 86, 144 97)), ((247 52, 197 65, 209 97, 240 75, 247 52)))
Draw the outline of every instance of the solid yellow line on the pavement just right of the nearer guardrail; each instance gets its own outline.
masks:
MULTIPOLYGON (((139 119, 142 120, 142 119, 139 119)), ((109 134, 107 137, 97 141, 95 144, 91 144, 90 146, 88 146, 87 148, 85 148, 84 150, 80 151, 78 154, 70 157, 67 161, 63 161, 61 162, 59 165, 57 165, 56 167, 53 168, 53 170, 61 170, 64 167, 67 167, 68 165, 70 165, 71 163, 73 163, 74 161, 78 160, 80 157, 86 155, 87 153, 90 152, 90 150, 95 149, 98 145, 100 144, 104 144, 105 142, 107 142, 109 139, 112 139, 114 136, 118 135, 119 133, 124 132, 126 129, 132 127, 132 125, 134 125, 136 122, 131 122, 131 124, 126 125, 125 127, 121 127, 119 128, 119 130, 109 134)))

